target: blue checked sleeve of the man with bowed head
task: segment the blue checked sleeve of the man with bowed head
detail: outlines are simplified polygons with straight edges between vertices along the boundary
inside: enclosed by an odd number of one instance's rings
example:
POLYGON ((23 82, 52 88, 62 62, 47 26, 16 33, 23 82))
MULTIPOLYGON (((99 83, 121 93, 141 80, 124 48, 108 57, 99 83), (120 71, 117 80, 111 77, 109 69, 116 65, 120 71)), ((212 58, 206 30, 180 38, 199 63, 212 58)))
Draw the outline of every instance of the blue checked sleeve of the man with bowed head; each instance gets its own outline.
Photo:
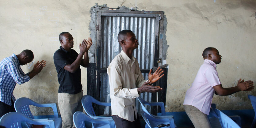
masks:
POLYGON ((20 67, 15 65, 13 62, 8 62, 5 67, 7 69, 7 72, 13 77, 13 80, 16 83, 21 85, 30 80, 30 77, 28 75, 25 75, 25 76, 22 75, 24 74, 24 72, 20 69, 20 67), (22 73, 20 72, 19 69, 22 71, 22 73))

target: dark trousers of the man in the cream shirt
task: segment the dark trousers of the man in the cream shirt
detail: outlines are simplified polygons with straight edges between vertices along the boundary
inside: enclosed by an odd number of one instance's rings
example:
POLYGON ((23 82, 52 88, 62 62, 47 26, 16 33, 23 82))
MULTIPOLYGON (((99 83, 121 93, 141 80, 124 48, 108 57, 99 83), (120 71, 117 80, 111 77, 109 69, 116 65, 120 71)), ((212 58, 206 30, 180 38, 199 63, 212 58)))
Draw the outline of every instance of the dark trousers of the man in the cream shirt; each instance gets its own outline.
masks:
POLYGON ((118 115, 112 116, 117 128, 141 128, 140 121, 139 121, 139 114, 137 113, 137 119, 134 112, 134 120, 133 122, 128 121, 119 117, 118 115))

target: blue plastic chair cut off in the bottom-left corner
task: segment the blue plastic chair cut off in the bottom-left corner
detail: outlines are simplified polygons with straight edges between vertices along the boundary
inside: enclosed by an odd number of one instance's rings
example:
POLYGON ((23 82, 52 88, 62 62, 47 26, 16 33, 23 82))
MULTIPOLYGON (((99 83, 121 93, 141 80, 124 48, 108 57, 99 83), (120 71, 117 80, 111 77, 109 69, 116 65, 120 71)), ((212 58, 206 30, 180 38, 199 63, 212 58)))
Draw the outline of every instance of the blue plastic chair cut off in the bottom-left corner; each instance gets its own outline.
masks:
POLYGON ((22 128, 21 122, 27 122, 35 125, 46 125, 48 128, 54 128, 53 120, 45 119, 30 119, 19 112, 9 112, 2 116, 0 119, 0 125, 6 128, 22 128))

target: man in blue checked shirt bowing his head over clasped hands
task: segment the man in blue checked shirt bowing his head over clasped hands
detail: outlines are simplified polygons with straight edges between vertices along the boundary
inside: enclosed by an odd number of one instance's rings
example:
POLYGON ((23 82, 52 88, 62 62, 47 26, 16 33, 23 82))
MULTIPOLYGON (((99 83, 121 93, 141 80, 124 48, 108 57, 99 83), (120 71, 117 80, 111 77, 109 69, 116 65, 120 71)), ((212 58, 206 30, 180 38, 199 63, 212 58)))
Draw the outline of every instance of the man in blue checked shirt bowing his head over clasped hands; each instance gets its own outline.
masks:
POLYGON ((12 54, 0 62, 0 117, 8 112, 15 111, 12 96, 16 83, 23 84, 28 82, 32 77, 40 73, 46 64, 44 60, 37 61, 33 70, 25 74, 21 70, 21 65, 26 65, 32 62, 33 59, 33 52, 24 50, 20 54, 12 54))

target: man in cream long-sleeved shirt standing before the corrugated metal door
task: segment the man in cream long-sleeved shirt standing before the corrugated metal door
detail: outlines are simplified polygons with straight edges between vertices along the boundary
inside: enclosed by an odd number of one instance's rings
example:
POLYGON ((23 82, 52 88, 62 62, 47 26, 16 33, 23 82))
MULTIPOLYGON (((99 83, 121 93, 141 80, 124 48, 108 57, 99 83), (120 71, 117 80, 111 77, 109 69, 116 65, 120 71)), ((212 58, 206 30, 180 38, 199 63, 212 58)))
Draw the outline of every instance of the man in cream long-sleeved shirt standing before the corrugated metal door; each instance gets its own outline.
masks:
POLYGON ((132 56, 133 50, 139 45, 136 36, 130 30, 123 30, 119 32, 117 38, 122 51, 112 60, 107 69, 112 116, 117 128, 140 127, 135 98, 142 92, 162 90, 159 86, 154 87, 151 84, 163 76, 163 71, 159 67, 155 73, 151 74, 150 70, 148 80, 144 80, 139 70, 139 63, 132 56))

